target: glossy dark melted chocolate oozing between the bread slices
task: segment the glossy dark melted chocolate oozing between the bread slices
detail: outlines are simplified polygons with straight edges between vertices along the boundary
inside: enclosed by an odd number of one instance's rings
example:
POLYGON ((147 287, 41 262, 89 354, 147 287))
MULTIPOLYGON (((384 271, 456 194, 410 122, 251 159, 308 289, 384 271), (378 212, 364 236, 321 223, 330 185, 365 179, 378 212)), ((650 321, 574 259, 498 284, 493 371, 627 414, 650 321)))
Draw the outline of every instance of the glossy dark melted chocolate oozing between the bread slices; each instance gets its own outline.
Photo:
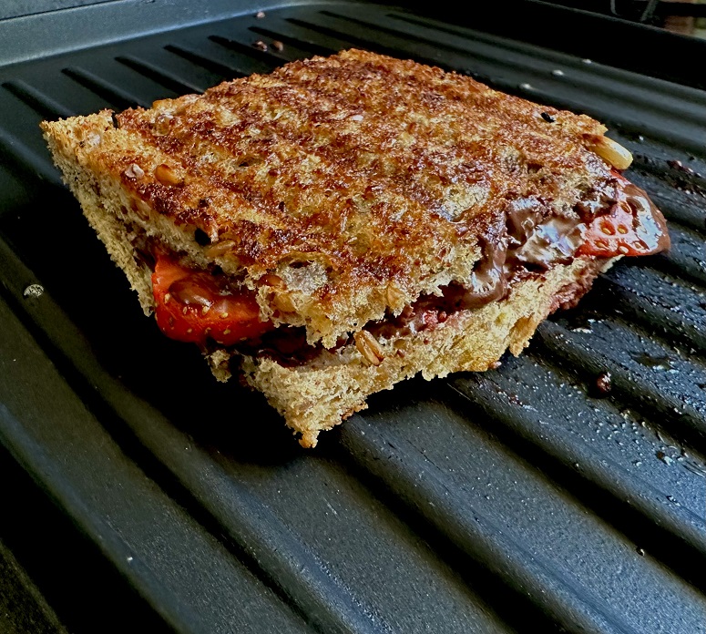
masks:
MULTIPOLYGON (((399 315, 388 315, 366 326, 366 330, 376 339, 392 340, 432 330, 454 312, 502 300, 517 281, 542 276, 553 266, 571 263, 584 242, 588 224, 609 214, 616 205, 630 210, 643 254, 669 248, 670 238, 660 210, 642 189, 618 174, 588 192, 573 210, 563 215, 552 214, 547 203, 537 197, 514 199, 507 203, 505 222, 488 227, 480 237, 482 255, 466 284, 452 282, 441 296, 422 296, 404 307, 399 315)), ((558 293, 552 312, 576 305, 588 291, 607 258, 591 260, 575 283, 558 293)), ((352 337, 342 338, 334 350, 352 341, 352 337)), ((269 356, 285 365, 304 363, 321 351, 319 345, 306 343, 302 329, 289 327, 277 328, 265 334, 261 342, 246 347, 243 352, 269 356)))

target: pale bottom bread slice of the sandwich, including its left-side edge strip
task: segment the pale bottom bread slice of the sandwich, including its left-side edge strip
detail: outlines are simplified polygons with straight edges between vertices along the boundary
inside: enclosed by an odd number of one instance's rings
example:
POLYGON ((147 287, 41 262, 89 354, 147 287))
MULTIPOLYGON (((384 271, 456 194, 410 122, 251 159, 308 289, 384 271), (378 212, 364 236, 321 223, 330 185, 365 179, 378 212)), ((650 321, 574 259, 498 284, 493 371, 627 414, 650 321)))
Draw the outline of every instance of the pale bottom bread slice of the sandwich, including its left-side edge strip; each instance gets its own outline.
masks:
MULTIPOLYGON (((98 196, 90 172, 78 168, 60 152, 55 152, 55 159, 88 222, 113 261, 125 271, 148 314, 154 306, 151 271, 133 249, 133 230, 107 209, 118 209, 120 201, 98 196)), ((541 275, 511 284, 509 295, 501 301, 455 312, 433 330, 378 341, 383 353, 379 365, 371 364, 353 343, 334 352, 322 349, 298 365, 229 350, 211 352, 208 361, 216 378, 225 381, 230 377, 231 358, 240 358, 245 381, 280 412, 300 435, 301 445, 313 447, 321 431, 364 409, 370 394, 389 390, 417 373, 428 380, 454 372, 484 371, 493 367, 507 349, 519 354, 550 312, 573 305, 596 276, 616 260, 577 258, 571 264, 556 265, 541 275)))

